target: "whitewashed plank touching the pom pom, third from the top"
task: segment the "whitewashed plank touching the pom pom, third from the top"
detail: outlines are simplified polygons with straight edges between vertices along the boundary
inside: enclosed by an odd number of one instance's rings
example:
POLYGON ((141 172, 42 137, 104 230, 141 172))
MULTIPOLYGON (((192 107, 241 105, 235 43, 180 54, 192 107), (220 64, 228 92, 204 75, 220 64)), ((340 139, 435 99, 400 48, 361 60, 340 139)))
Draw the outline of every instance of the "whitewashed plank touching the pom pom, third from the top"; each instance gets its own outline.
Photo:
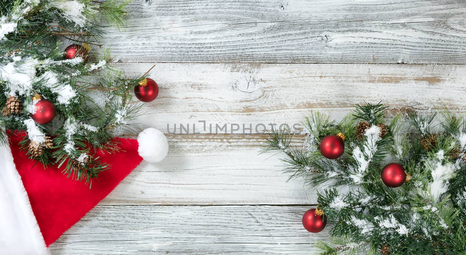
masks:
POLYGON ((303 179, 286 182, 283 155, 258 155, 265 137, 167 135, 167 157, 158 164, 143 161, 100 204, 316 204, 303 179))

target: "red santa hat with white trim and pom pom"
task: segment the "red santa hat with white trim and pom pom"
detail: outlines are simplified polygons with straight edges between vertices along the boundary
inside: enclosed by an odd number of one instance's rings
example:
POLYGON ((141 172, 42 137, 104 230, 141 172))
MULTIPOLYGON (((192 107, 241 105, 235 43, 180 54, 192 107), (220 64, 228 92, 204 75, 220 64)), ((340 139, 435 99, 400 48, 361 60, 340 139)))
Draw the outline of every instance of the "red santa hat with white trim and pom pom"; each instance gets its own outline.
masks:
POLYGON ((137 140, 116 138, 120 152, 96 152, 111 165, 92 187, 63 176, 56 167, 44 168, 20 151, 21 133, 0 146, 0 254, 45 255, 47 247, 105 198, 145 159, 159 162, 167 155, 164 134, 154 128, 137 140), (138 153, 139 152, 139 153, 138 153))

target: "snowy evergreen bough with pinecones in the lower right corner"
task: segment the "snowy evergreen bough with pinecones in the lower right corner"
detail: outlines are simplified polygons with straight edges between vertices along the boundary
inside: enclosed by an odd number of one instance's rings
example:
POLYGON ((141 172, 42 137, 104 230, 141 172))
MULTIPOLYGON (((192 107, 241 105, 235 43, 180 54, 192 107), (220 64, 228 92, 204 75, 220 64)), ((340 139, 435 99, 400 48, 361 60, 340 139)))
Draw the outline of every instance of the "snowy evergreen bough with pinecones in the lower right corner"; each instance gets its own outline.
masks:
POLYGON ((466 254, 465 117, 427 110, 386 119, 385 108, 356 105, 338 123, 312 112, 303 144, 293 132, 274 130, 261 152, 284 152, 290 178, 320 187, 317 207, 333 223, 333 244, 316 242, 318 254, 466 254), (343 156, 324 158, 322 138, 339 132, 343 156), (381 179, 391 162, 410 176, 396 188, 381 179))

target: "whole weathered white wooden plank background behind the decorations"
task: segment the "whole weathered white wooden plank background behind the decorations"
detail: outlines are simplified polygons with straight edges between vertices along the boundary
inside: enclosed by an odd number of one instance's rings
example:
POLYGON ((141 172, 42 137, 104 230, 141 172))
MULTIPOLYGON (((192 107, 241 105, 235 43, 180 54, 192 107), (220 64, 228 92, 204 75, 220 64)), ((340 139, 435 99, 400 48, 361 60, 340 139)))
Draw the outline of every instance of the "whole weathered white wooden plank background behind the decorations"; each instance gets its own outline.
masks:
POLYGON ((311 254, 331 227, 302 228, 315 191, 285 182, 281 155, 258 155, 265 135, 199 120, 338 119, 364 100, 466 111, 465 0, 134 0, 104 44, 128 75, 156 65, 141 128, 199 134, 167 134, 167 158, 137 167, 52 254, 311 254))

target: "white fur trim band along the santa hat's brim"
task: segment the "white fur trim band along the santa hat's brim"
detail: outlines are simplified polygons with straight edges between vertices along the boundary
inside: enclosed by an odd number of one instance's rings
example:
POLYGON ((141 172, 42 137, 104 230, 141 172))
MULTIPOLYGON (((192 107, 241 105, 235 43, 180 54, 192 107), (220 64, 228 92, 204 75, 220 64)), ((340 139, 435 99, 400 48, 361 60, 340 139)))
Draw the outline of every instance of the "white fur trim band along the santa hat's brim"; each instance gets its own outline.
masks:
POLYGON ((9 147, 0 146, 0 254, 48 255, 9 147))

